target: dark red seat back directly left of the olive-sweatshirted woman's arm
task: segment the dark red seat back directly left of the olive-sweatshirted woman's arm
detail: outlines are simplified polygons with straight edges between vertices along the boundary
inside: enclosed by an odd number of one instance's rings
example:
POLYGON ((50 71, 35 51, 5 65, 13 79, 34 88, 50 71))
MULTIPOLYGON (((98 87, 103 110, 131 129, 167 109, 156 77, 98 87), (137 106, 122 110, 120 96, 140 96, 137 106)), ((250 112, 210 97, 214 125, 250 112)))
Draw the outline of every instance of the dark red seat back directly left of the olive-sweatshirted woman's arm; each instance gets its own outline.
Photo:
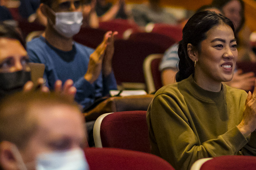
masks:
POLYGON ((101 122, 102 147, 150 153, 146 111, 115 112, 101 122))

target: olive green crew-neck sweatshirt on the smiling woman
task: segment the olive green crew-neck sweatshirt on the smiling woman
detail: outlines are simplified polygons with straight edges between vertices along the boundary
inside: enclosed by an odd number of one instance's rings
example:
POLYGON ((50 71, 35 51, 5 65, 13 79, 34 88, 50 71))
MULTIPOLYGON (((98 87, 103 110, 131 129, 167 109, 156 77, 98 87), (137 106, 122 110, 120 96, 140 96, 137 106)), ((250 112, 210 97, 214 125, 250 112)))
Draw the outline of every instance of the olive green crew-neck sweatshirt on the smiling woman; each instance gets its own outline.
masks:
POLYGON ((245 91, 223 84, 220 92, 204 90, 193 75, 164 86, 147 112, 152 153, 176 170, 188 170, 201 158, 256 155, 256 135, 247 139, 236 127, 246 98, 245 91))

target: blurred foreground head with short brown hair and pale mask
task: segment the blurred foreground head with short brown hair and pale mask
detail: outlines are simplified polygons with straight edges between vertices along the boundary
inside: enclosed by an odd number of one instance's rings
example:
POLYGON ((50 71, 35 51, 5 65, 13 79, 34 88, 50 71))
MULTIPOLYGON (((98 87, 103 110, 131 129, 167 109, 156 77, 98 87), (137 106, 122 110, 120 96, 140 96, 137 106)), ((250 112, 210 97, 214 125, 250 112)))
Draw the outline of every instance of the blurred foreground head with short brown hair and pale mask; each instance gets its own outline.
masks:
POLYGON ((86 170, 84 118, 54 93, 18 93, 0 102, 1 170, 86 170))

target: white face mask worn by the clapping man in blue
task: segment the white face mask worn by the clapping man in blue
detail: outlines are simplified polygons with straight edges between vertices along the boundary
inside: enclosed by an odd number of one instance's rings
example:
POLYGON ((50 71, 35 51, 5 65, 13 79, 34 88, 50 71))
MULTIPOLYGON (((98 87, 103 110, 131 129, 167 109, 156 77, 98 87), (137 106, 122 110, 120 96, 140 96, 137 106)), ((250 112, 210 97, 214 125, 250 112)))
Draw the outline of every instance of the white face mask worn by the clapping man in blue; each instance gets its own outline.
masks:
POLYGON ((55 15, 53 28, 60 35, 71 38, 80 31, 83 21, 82 12, 54 12, 50 7, 48 9, 55 15))

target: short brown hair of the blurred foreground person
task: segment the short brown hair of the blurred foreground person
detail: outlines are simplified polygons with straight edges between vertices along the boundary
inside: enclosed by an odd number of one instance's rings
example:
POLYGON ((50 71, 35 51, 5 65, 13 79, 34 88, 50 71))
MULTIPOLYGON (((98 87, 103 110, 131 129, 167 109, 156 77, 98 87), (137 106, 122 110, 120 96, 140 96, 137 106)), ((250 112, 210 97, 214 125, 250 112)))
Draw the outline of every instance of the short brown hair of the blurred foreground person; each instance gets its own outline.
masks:
POLYGON ((55 93, 20 92, 3 98, 0 101, 0 142, 12 142, 20 149, 26 147, 38 128, 31 109, 54 105, 68 105, 78 109, 73 100, 55 93))

